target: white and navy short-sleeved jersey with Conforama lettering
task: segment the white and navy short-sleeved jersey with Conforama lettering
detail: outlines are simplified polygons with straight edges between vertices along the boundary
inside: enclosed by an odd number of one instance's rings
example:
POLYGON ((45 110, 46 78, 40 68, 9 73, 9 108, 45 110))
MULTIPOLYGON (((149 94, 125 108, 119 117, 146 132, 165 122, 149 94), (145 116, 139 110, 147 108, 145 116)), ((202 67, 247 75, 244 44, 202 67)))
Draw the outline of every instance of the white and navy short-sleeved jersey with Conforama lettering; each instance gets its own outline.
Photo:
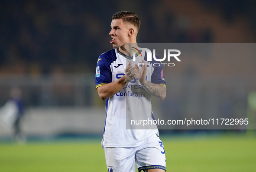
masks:
MULTIPOLYGON (((146 52, 141 51, 141 60, 147 64, 146 80, 154 84, 166 85, 162 63, 146 61, 146 52), (154 65, 152 65, 154 63, 154 65)), ((97 60, 95 84, 98 87, 117 81, 125 75, 126 64, 132 60, 118 49, 101 54, 97 60)), ((135 66, 132 60, 132 67, 135 66)), ((106 121, 102 147, 136 147, 150 137, 158 137, 158 129, 126 129, 127 114, 143 114, 144 119, 154 119, 151 107, 151 95, 143 88, 138 79, 130 83, 106 100, 106 121), (128 102, 129 99, 129 102, 128 102), (145 112, 145 109, 146 112, 145 112), (145 114, 144 114, 145 113, 145 114)))

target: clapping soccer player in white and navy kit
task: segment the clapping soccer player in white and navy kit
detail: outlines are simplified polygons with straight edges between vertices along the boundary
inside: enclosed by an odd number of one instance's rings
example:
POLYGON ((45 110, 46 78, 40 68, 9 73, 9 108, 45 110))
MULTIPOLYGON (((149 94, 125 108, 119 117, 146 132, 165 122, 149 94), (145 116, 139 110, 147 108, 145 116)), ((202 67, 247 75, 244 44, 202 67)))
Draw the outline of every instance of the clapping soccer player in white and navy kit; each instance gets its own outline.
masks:
MULTIPOLYGON (((136 57, 142 58, 140 65, 133 63, 133 52, 126 44, 136 44, 140 27, 136 14, 118 12, 112 16, 110 27, 113 49, 99 56, 95 75, 96 90, 106 100, 102 147, 108 172, 135 172, 135 163, 139 172, 164 172, 165 150, 157 128, 126 129, 128 111, 136 116, 149 109, 150 119, 154 119, 151 95, 160 100, 166 95, 162 64, 147 62, 145 50, 140 50, 141 55, 136 57), (128 98, 132 101, 127 104, 128 98), (134 114, 136 110, 139 113, 134 114)), ((140 47, 136 44, 134 48, 140 47)))

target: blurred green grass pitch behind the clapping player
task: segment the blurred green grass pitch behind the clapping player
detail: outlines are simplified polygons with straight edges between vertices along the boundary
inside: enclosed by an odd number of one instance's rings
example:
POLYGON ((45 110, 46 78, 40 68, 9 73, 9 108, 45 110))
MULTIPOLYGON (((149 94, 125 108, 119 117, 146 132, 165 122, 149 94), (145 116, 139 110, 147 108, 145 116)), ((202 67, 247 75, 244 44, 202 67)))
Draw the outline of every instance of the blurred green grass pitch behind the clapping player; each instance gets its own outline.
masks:
MULTIPOLYGON (((167 172, 256 172, 256 137, 162 137, 167 172)), ((100 140, 0 143, 0 172, 107 172, 100 140)))

